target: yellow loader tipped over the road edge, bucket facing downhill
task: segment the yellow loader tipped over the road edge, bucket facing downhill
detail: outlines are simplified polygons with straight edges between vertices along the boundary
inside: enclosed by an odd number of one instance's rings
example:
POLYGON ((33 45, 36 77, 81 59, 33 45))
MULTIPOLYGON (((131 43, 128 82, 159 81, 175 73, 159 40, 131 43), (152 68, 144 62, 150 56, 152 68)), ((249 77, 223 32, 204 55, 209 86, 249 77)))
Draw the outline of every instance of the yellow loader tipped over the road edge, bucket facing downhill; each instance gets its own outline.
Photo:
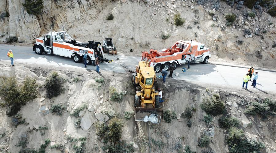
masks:
POLYGON ((132 77, 136 87, 135 95, 135 121, 143 121, 145 116, 155 114, 158 123, 163 118, 163 109, 159 108, 159 93, 155 91, 156 76, 149 62, 140 61, 136 66, 136 73, 132 77))

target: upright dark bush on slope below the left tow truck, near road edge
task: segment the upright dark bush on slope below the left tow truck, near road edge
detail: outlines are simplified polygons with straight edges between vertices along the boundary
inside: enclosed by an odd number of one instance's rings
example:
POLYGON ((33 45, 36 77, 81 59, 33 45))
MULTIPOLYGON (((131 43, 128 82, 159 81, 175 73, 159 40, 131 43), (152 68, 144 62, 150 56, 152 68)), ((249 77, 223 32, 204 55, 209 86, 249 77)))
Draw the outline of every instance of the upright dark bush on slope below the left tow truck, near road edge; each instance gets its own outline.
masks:
POLYGON ((45 81, 46 97, 51 99, 64 93, 62 86, 64 82, 65 80, 57 72, 52 72, 51 76, 45 81))

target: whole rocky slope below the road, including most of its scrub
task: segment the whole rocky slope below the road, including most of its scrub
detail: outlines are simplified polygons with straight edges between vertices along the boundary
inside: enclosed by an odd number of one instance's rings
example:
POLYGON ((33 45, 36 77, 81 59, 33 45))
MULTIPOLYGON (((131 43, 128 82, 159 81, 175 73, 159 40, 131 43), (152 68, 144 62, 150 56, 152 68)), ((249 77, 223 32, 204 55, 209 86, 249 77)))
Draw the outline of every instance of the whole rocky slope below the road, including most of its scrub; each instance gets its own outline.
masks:
MULTIPOLYGON (((134 121, 130 73, 98 75, 60 67, 53 68, 57 72, 53 73, 34 66, 0 66, 1 82, 14 77, 20 86, 29 76, 38 84, 38 96, 16 115, 7 115, 12 113, 10 105, 5 107, 9 99, 1 96, 0 152, 276 151, 275 96, 168 80, 158 87, 165 102, 161 105, 164 119, 157 125, 134 121), (45 84, 55 74, 63 81, 49 90, 45 84)), ((9 86, 1 84, 0 92, 3 87, 9 86)), ((24 98, 30 95, 25 93, 24 98)))

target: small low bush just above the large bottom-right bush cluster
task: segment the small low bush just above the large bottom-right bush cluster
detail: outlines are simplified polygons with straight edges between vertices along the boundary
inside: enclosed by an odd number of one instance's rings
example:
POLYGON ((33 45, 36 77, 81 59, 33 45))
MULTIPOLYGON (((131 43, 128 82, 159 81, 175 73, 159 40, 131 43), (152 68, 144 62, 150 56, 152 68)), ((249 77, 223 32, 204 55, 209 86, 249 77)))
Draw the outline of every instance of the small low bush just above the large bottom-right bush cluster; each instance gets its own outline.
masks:
POLYGON ((230 128, 230 127, 239 127, 240 126, 240 120, 239 119, 237 119, 237 118, 235 118, 235 117, 227 117, 227 116, 225 116, 225 117, 221 117, 220 119, 219 119, 219 125, 220 125, 220 127, 221 128, 225 128, 225 129, 228 129, 228 128, 230 128))

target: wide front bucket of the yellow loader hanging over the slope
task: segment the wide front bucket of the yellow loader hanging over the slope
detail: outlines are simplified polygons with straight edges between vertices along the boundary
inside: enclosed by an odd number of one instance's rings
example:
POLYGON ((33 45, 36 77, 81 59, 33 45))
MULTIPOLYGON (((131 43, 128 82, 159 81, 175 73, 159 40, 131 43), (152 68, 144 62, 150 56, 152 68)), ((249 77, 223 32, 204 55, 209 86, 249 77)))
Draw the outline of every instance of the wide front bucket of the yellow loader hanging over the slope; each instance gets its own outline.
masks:
POLYGON ((135 108, 135 121, 143 121, 145 116, 150 116, 151 114, 155 114, 158 121, 157 124, 160 123, 161 119, 163 120, 163 108, 135 108))

